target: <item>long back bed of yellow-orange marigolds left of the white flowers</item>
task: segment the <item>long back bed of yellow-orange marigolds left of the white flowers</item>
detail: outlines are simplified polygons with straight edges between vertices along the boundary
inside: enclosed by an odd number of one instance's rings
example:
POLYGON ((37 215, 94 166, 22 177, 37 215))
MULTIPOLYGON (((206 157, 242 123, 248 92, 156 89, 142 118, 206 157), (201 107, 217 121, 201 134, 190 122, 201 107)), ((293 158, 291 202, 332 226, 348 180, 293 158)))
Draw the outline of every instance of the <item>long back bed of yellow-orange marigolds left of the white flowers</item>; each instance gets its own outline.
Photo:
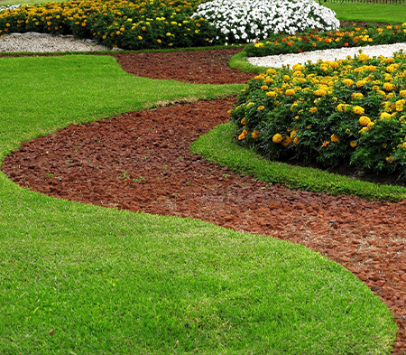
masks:
POLYGON ((190 18, 198 4, 73 0, 23 5, 0 12, 0 35, 28 31, 74 34, 129 50, 207 45, 214 38, 213 28, 203 18, 190 18))

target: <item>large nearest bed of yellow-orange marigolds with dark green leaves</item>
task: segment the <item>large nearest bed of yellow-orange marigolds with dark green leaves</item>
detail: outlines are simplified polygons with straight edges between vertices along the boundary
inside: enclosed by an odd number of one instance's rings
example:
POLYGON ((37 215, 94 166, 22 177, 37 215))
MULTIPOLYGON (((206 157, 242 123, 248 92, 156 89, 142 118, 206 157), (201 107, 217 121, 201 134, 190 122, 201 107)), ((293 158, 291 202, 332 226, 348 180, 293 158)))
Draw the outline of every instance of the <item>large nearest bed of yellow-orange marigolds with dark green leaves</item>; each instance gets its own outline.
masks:
POLYGON ((406 55, 318 61, 250 80, 229 111, 241 145, 277 160, 406 175, 406 55))

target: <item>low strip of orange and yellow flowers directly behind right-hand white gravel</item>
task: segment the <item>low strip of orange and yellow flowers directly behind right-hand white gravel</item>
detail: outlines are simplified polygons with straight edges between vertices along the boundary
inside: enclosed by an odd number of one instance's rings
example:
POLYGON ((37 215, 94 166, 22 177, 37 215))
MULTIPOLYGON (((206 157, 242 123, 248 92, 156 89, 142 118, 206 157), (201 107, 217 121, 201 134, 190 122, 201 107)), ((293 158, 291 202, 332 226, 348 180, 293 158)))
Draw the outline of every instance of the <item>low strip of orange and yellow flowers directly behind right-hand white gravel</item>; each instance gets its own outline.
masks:
POLYGON ((318 31, 310 29, 304 33, 286 35, 272 33, 264 41, 247 44, 248 57, 263 57, 302 51, 318 51, 343 47, 392 44, 406 42, 406 23, 375 27, 348 27, 341 31, 318 31))

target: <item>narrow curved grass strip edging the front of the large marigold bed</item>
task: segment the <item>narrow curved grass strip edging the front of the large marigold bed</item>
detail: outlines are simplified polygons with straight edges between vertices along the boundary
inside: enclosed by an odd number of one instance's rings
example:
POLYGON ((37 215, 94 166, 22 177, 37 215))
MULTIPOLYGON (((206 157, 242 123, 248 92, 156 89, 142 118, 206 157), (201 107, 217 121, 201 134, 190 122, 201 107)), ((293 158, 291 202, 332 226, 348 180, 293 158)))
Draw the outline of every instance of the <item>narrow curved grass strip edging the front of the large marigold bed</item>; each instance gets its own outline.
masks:
POLYGON ((234 139, 233 126, 224 124, 200 136, 192 144, 192 150, 237 173, 249 173, 265 182, 281 183, 291 189, 346 194, 369 200, 406 199, 404 187, 376 185, 323 170, 272 162, 252 150, 236 145, 234 139))

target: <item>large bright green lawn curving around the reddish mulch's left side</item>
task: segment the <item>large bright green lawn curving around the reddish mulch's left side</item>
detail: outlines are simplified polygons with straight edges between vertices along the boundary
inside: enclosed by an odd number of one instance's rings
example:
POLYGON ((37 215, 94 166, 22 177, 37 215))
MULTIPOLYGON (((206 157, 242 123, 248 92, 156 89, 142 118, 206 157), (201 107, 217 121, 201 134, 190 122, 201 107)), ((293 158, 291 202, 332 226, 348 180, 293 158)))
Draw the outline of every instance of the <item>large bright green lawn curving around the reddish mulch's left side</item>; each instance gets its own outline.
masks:
MULTIPOLYGON (((0 157, 69 123, 241 86, 135 78, 111 57, 0 59, 0 157)), ((344 267, 198 220, 53 199, 0 173, 0 349, 390 353, 396 323, 344 267)))

